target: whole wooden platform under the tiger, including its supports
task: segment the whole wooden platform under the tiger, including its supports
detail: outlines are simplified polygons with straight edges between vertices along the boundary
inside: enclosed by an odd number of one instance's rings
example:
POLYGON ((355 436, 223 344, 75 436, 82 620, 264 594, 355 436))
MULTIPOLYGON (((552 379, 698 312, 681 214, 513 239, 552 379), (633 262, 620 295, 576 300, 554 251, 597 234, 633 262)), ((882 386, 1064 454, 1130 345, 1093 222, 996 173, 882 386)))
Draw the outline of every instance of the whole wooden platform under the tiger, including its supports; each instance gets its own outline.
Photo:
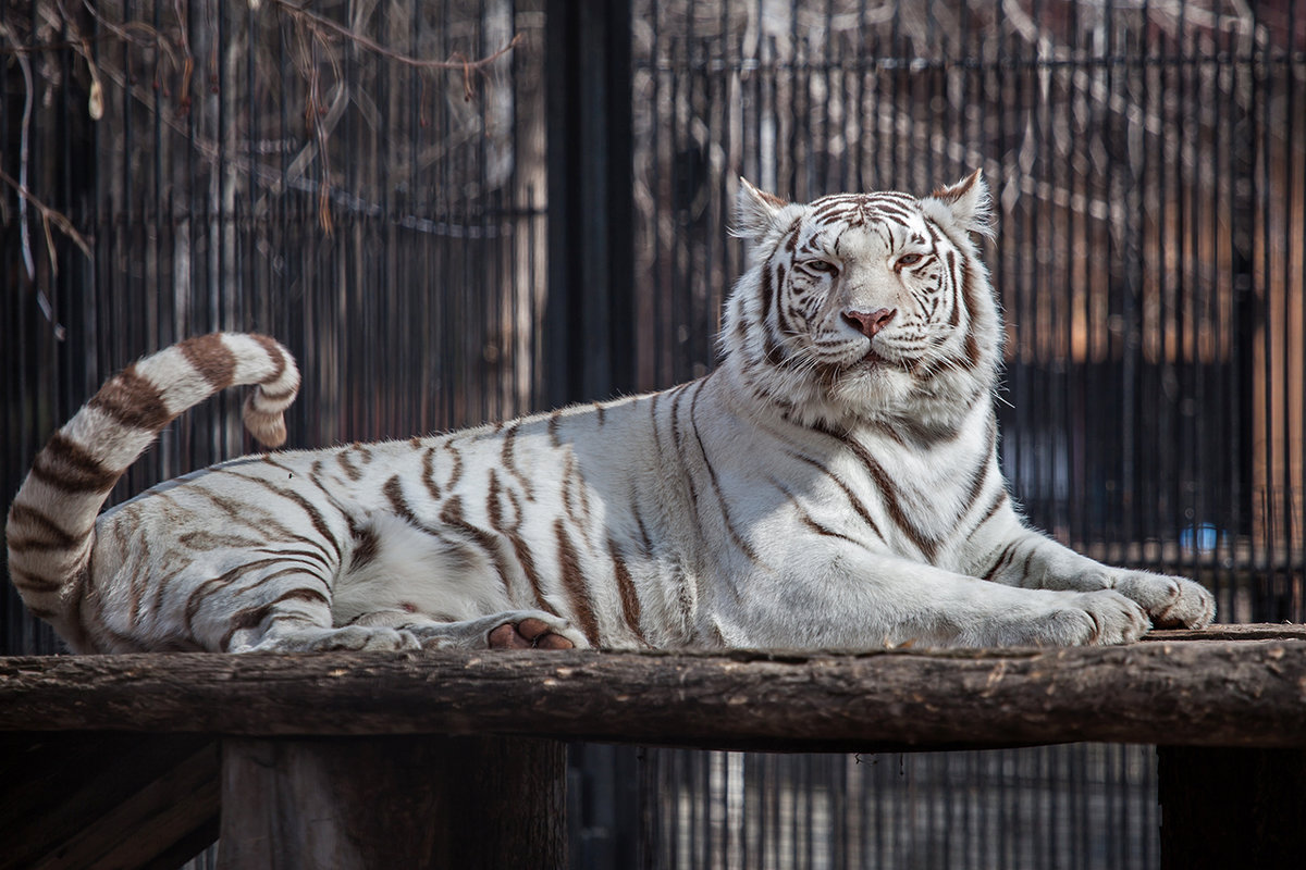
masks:
POLYGON ((563 866, 564 740, 1157 743, 1166 866, 1306 854, 1306 626, 1262 625, 1076 650, 0 659, 0 867, 168 866, 219 830, 232 869, 563 866))

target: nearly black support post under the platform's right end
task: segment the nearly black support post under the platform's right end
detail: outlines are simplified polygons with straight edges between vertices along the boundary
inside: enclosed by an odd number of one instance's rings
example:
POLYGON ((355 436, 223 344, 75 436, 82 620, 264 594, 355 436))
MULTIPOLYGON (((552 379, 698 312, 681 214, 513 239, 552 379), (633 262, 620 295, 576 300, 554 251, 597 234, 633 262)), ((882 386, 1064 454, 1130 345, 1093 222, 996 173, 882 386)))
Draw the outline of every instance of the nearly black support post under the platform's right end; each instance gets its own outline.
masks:
POLYGON ((1306 751, 1158 746, 1162 870, 1306 863, 1306 751))

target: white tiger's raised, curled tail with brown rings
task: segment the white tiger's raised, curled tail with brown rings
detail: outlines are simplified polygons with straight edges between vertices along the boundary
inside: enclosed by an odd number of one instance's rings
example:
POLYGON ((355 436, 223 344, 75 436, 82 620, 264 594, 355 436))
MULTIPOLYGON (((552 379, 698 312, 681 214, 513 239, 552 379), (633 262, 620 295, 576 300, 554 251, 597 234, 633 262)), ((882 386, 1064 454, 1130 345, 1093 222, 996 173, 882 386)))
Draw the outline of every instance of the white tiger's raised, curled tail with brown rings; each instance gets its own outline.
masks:
POLYGON ((128 365, 50 438, 5 526, 9 577, 35 616, 61 634, 73 627, 69 609, 81 599, 95 518, 114 484, 178 415, 240 383, 257 385, 244 404, 246 428, 269 447, 283 443, 282 415, 299 391, 295 360, 273 339, 240 333, 189 338, 128 365))

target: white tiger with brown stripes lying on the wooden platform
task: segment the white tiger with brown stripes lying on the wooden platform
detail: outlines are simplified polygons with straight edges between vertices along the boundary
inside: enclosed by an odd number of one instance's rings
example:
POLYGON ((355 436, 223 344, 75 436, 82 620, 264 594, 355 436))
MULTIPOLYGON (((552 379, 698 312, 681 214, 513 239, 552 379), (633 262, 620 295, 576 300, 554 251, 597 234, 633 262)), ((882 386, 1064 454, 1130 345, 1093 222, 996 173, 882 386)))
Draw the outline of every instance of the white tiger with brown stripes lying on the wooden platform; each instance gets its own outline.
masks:
POLYGON ((110 380, 37 457, 9 570, 77 651, 879 647, 1130 642, 1211 595, 1029 530, 998 467, 1002 326, 983 180, 786 203, 743 181, 751 267, 722 359, 665 393, 414 438, 270 453, 102 514, 159 429, 299 376, 257 335, 110 380))

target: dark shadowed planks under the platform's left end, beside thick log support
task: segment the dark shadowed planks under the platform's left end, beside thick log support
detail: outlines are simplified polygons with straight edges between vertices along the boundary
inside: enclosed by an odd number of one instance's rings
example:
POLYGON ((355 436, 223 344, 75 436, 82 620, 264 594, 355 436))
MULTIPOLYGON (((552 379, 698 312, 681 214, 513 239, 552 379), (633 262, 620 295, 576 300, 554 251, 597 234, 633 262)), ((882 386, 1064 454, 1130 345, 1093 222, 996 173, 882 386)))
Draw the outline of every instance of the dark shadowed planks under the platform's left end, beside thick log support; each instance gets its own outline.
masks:
POLYGON ((0 736, 0 869, 178 866, 217 837, 217 743, 0 736))

